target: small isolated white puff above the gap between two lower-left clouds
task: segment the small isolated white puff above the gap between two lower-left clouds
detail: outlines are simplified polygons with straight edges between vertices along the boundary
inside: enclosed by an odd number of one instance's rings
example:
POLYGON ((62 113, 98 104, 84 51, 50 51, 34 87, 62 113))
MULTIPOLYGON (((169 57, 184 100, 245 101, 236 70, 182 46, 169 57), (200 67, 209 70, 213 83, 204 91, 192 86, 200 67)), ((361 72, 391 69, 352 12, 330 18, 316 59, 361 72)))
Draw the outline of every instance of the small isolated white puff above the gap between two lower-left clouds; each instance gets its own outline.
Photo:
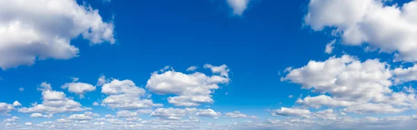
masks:
POLYGON ((83 98, 85 93, 95 91, 96 87, 82 82, 72 82, 64 84, 61 88, 68 89, 71 93, 76 93, 80 96, 80 98, 83 98))

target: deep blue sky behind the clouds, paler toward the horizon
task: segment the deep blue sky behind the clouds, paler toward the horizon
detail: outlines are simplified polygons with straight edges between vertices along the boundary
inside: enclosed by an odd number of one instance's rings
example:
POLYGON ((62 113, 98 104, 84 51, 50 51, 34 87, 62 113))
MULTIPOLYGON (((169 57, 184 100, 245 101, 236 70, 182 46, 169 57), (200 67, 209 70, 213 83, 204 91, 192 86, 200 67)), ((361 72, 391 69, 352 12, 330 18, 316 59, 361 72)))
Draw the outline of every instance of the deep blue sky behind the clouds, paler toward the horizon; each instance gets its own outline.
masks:
MULTIPOLYGON (((233 8, 230 3, 228 4, 228 1, 226 0, 77 0, 76 2, 78 5, 90 6, 92 10, 98 10, 99 16, 101 16, 103 20, 102 22, 114 26, 112 29, 115 43, 111 44, 111 41, 101 37, 104 41, 96 44, 93 43, 94 41, 92 41, 92 39, 85 38, 80 33, 76 35, 76 37, 69 37, 70 44, 79 48, 79 53, 76 57, 60 59, 51 56, 46 59, 35 60, 34 64, 16 63, 13 64, 13 67, 2 66, 1 68, 3 68, 3 70, 0 71, 0 102, 13 104, 13 102, 18 101, 22 106, 15 106, 15 109, 0 115, 0 120, 4 121, 0 123, 2 126, 0 129, 24 129, 27 127, 32 127, 33 129, 45 129, 47 128, 45 127, 46 125, 38 126, 37 124, 42 124, 42 122, 46 121, 54 122, 61 118, 67 119, 70 115, 82 114, 85 113, 85 111, 91 111, 92 113, 101 115, 97 118, 104 118, 104 115, 106 114, 116 115, 116 112, 122 111, 122 109, 111 109, 108 106, 92 105, 93 102, 99 102, 101 104, 102 100, 107 96, 101 93, 101 86, 96 85, 97 79, 103 75, 108 79, 113 77, 118 80, 133 81, 136 86, 145 89, 152 95, 150 99, 154 104, 163 104, 161 108, 172 107, 184 109, 186 107, 175 106, 167 101, 167 97, 175 96, 175 94, 159 95, 158 93, 149 91, 146 87, 147 81, 152 73, 161 70, 165 66, 170 66, 174 68, 174 71, 187 75, 194 73, 193 71, 186 71, 188 67, 197 66, 197 72, 206 75, 216 75, 215 73, 212 73, 210 69, 204 68, 204 64, 213 64, 213 66, 227 65, 227 68, 230 70, 229 77, 227 78, 230 82, 227 84, 219 84, 220 89, 213 89, 213 93, 211 93, 213 99, 212 103, 202 103, 198 106, 192 106, 197 109, 213 109, 216 112, 222 113, 221 116, 215 119, 199 118, 199 123, 193 124, 197 126, 196 129, 203 129, 205 127, 207 129, 213 129, 216 128, 213 127, 216 125, 218 126, 218 129, 220 129, 220 127, 224 127, 225 129, 304 129, 311 128, 311 126, 318 129, 355 129, 354 127, 352 128, 352 126, 367 126, 369 129, 373 129, 375 127, 384 127, 384 124, 390 123, 395 124, 394 126, 398 124, 402 127, 409 127, 412 124, 409 124, 409 122, 416 122, 414 119, 416 119, 417 116, 413 116, 416 114, 413 106, 415 105, 413 103, 414 101, 404 101, 411 106, 407 106, 407 109, 400 112, 386 113, 384 111, 366 111, 365 113, 355 113, 352 111, 343 111, 345 106, 331 105, 323 105, 320 109, 316 109, 312 106, 300 104, 300 102, 297 103, 296 101, 300 98, 303 99, 304 97, 307 97, 307 95, 314 97, 324 94, 335 98, 338 96, 332 92, 316 93, 309 89, 301 89, 303 85, 309 83, 305 83, 304 81, 296 82, 295 78, 288 76, 288 79, 281 80, 281 78, 285 78, 288 73, 294 71, 285 71, 288 67, 301 68, 302 66, 306 66, 309 61, 325 62, 329 58, 339 58, 343 55, 351 55, 354 57, 354 60, 361 62, 365 62, 367 59, 377 59, 383 64, 386 64, 386 69, 389 69, 390 72, 395 68, 413 67, 416 60, 412 58, 410 60, 399 59, 400 62, 393 62, 395 54, 402 54, 403 51, 405 53, 408 52, 400 49, 395 50, 395 46, 398 45, 397 41, 392 41, 392 44, 390 42, 379 44, 378 40, 373 40, 373 35, 367 34, 372 33, 373 31, 364 31, 363 33, 366 33, 370 40, 360 41, 357 46, 346 44, 345 41, 348 41, 350 37, 332 35, 332 30, 343 30, 347 32, 345 28, 350 24, 332 24, 332 21, 322 21, 322 23, 324 23, 322 26, 325 28, 315 29, 313 26, 319 26, 319 24, 321 24, 319 23, 320 21, 316 21, 315 24, 314 22, 309 22, 304 19, 306 14, 313 11, 313 8, 309 8, 309 3, 311 4, 311 1, 308 0, 248 1, 249 3, 245 3, 247 4, 247 8, 245 8, 244 12, 242 14, 236 14, 234 13, 234 9, 236 10, 236 8, 233 8), (325 53, 326 45, 332 40, 335 40, 332 53, 325 53), (394 49, 384 51, 382 48, 391 47, 382 46, 382 44, 393 46, 392 48, 394 49), (366 51, 364 48, 367 46, 374 46, 379 50, 366 51), (96 90, 85 93, 85 98, 80 98, 76 93, 70 93, 68 89, 61 88, 65 83, 72 82, 72 77, 78 77, 78 82, 96 86, 96 90), (39 91, 42 82, 51 84, 54 91, 63 91, 67 97, 72 97, 74 101, 79 102, 83 107, 88 107, 90 109, 78 112, 54 113, 54 117, 52 118, 31 118, 29 117, 31 113, 19 112, 19 109, 22 107, 31 107, 31 103, 33 102, 38 102, 38 104, 42 103, 42 91, 39 91), (19 88, 23 88, 24 91, 19 91, 19 88), (290 95, 292 97, 289 97, 290 95), (307 109, 309 110, 309 113, 311 111, 311 114, 316 113, 317 111, 332 109, 337 117, 349 116, 350 119, 353 120, 364 120, 369 117, 381 118, 381 122, 379 122, 381 125, 371 122, 370 124, 346 125, 343 125, 343 123, 336 123, 337 125, 307 123, 307 126, 303 126, 303 123, 297 124, 297 122, 291 122, 291 125, 286 126, 284 123, 285 121, 279 122, 279 125, 274 124, 272 120, 324 120, 318 119, 317 117, 307 118, 304 115, 297 116, 297 114, 294 115, 291 113, 277 112, 278 114, 275 114, 274 111, 284 111, 282 107, 289 109, 307 109), (240 111, 240 113, 244 113, 247 116, 255 115, 257 118, 227 118, 225 113, 233 111, 240 111), (347 115, 341 115, 341 113, 347 113, 347 115), (63 117, 61 115, 66 116, 63 117), (399 115, 402 115, 405 118, 402 118, 401 121, 398 122, 387 122, 385 119, 386 117, 398 118, 399 115), (12 118, 13 116, 18 117, 19 119, 15 122, 6 122, 6 119, 12 118), (408 120, 406 116, 409 116, 411 121, 408 120), (32 125, 25 125, 26 122, 31 122, 32 125), (6 123, 15 124, 13 124, 13 127, 10 127, 6 126, 6 123), (234 123, 246 123, 243 126, 247 127, 233 127, 234 123), (256 123, 263 125, 257 126, 256 123), (270 124, 270 126, 268 126, 268 124, 270 124)), ((376 0, 367 1, 375 2, 376 0)), ((3 0, 1 2, 8 3, 10 1, 3 0)), ((320 0, 318 2, 323 4, 326 2, 332 3, 325 0, 320 0)), ((10 2, 10 5, 12 5, 12 3, 13 2, 10 2)), ((383 3, 381 8, 401 8, 404 3, 416 2, 394 0, 392 2, 383 3)), ((0 6, 0 8, 1 7, 2 6, 0 6)), ((349 10, 345 11, 349 14, 349 10)), ((402 11, 407 12, 405 10, 402 11)), ((332 10, 329 10, 329 13, 331 12, 332 10)), ((13 13, 10 14, 15 15, 13 13)), ((16 14, 18 15, 18 13, 16 14)), ((1 15, 4 14, 0 13, 0 21, 2 19, 6 19, 4 21, 10 20, 8 17, 1 17, 1 15)), ((415 16, 416 15, 414 15, 414 17, 415 16)), ((341 16, 335 14, 334 17, 341 16)), ((347 19, 345 20, 348 21, 347 19)), ((8 26, 8 24, 5 23, 6 22, 0 22, 0 27, 2 27, 1 24, 3 24, 3 26, 8 26)), ((403 22, 398 21, 398 23, 401 24, 403 22)), ((410 28, 415 28, 415 26, 417 26, 416 21, 410 21, 410 23, 412 24, 407 24, 407 26, 411 26, 410 28)), ((367 25, 360 22, 359 24, 363 26, 367 25)), ((54 26, 51 28, 56 30, 60 29, 55 28, 54 26)), ((370 28, 368 30, 373 29, 370 28)), ((342 35, 343 31, 340 32, 342 35)), ((413 32, 412 29, 411 32, 413 32)), ((405 33, 408 32, 404 32, 404 34, 405 33)), ((382 36, 391 37, 389 33, 384 33, 382 36)), ((409 37, 417 37, 416 32, 409 37)), ((394 39, 395 36, 392 36, 391 38, 394 39)), ((7 39, 7 37, 2 37, 1 39, 7 39)), ((407 37, 400 37, 400 39, 409 40, 409 42, 404 41, 406 44, 415 45, 417 43, 417 41, 414 41, 415 38, 409 39, 407 37)), ((400 42, 402 40, 398 41, 400 42)), ((2 42, 0 41, 0 45, 1 44, 2 42)), ((414 49, 414 47, 410 48, 411 50, 414 49)), ((5 49, 8 48, 0 47, 0 51, 5 51, 5 49)), ((47 50, 42 50, 42 48, 40 48, 40 51, 47 50)), ((40 54, 35 54, 35 56, 39 55, 40 54)), ((14 55, 8 56, 12 57, 14 55)), ((414 57, 414 55, 409 57, 414 57)), ((8 61, 0 60, 0 62, 7 63, 8 61)), ((164 72, 166 71, 168 70, 165 70, 164 72)), ((161 73, 163 72, 160 72, 159 74, 161 73)), ((320 73, 309 74, 310 76, 325 77, 326 73, 322 73, 322 75, 320 73)), ((395 77, 401 76, 399 74, 394 74, 394 72, 392 75, 392 78, 390 77, 389 80, 392 82, 394 82, 395 77)), ((404 89, 402 89, 403 86, 410 86, 411 89, 415 88, 415 86, 413 86, 414 80, 416 80, 413 78, 414 75, 416 74, 413 71, 408 75, 409 78, 404 77, 400 79, 408 79, 407 81, 402 82, 402 84, 390 85, 389 88, 393 91, 391 94, 402 93, 402 91, 404 91, 404 89)), ((357 86, 347 87, 354 88, 357 86)), ((407 93, 407 95, 415 96, 414 93, 415 92, 407 93)), ((390 93, 385 94, 387 96, 391 95, 390 93)), ((417 100, 416 97, 412 98, 417 100)), ((375 100, 369 102, 375 104, 378 103, 375 100)), ((402 108, 402 106, 395 107, 402 108)), ((385 107, 384 109, 389 108, 390 107, 385 107)), ((149 109, 154 111, 158 109, 158 107, 151 107, 149 109)), ((42 114, 47 114, 47 112, 42 114)), ((142 120, 163 120, 162 118, 149 116, 149 113, 138 115, 138 118, 142 118, 142 120)), ((88 123, 94 124, 95 122, 100 122, 95 121, 95 119, 96 117, 92 120, 88 120, 88 123)), ((123 118, 120 119, 123 120, 123 118)), ((184 116, 183 119, 188 119, 188 115, 184 116)), ((111 125, 111 122, 104 122, 104 125, 111 125)), ((59 123, 56 123, 55 126, 58 126, 59 123)), ((77 124, 79 122, 74 121, 71 123, 77 124)), ((145 122, 137 122, 136 127, 131 129, 145 129, 145 127, 138 127, 138 124, 148 125, 145 122)), ((72 126, 72 124, 65 125, 72 126)), ((85 124, 81 123, 79 125, 82 126, 85 124)), ((190 124, 181 125, 186 126, 190 124)), ((85 128, 97 129, 98 127, 85 128)), ((123 129, 124 127, 117 128, 123 129)), ((179 127, 173 128, 183 129, 179 127)), ((52 128, 49 127, 49 129, 52 128)), ((60 127, 60 129, 63 128, 60 127)), ((391 129, 391 127, 389 129, 391 129)))

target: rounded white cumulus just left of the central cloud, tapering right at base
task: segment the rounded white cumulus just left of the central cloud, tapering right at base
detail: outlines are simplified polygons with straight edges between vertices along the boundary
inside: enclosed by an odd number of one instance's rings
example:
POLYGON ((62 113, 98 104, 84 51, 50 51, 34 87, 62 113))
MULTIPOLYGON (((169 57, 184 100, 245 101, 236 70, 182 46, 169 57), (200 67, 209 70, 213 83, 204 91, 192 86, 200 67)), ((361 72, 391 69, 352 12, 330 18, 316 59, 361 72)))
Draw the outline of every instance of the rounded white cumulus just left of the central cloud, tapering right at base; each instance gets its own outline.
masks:
POLYGON ((102 102, 112 109, 134 110, 162 106, 148 99, 145 89, 136 86, 131 80, 113 80, 101 87, 101 93, 108 95, 102 102))

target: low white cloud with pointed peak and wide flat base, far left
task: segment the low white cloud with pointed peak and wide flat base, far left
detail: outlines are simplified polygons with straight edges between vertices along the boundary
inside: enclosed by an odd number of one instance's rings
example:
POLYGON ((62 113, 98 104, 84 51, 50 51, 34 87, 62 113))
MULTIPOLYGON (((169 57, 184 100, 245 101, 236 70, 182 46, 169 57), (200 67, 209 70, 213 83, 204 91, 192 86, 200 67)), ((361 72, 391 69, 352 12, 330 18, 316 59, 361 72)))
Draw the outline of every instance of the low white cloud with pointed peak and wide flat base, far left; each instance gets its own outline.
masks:
POLYGON ((42 82, 40 84, 42 91, 42 104, 35 104, 33 107, 22 107, 19 112, 22 113, 67 113, 79 112, 88 108, 83 108, 79 102, 75 102, 66 97, 61 91, 52 90, 51 84, 42 82))

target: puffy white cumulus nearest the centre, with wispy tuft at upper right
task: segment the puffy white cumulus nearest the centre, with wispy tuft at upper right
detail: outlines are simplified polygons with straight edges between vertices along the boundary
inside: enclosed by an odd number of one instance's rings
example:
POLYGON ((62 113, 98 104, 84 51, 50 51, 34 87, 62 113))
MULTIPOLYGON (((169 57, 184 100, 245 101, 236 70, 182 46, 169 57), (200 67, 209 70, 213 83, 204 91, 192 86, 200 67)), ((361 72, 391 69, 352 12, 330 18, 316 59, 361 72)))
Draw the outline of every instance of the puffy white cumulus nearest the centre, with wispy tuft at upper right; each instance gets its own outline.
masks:
POLYGON ((219 89, 220 84, 227 84, 229 79, 229 68, 226 65, 213 66, 204 65, 210 68, 213 75, 195 72, 185 74, 176 71, 165 71, 152 73, 147 81, 146 88, 149 91, 160 95, 174 94, 175 97, 168 97, 170 104, 175 106, 198 106, 203 103, 213 103, 212 93, 219 89))

